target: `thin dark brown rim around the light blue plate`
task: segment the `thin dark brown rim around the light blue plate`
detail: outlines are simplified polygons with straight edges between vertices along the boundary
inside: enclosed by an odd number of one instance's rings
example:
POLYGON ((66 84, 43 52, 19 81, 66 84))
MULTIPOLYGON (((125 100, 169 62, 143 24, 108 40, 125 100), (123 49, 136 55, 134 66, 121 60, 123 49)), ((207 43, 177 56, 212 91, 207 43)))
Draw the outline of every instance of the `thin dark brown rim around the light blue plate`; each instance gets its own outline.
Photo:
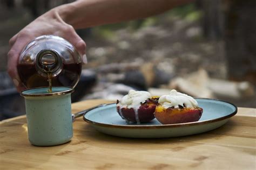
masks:
MULTIPOLYGON (((223 121, 223 120, 233 117, 235 114, 237 114, 237 106, 230 102, 217 100, 217 99, 211 99, 211 98, 199 98, 199 97, 194 97, 194 98, 199 99, 199 100, 203 99, 203 100, 211 100, 211 101, 219 101, 219 102, 228 103, 228 104, 231 104, 235 108, 235 111, 233 111, 231 114, 228 114, 226 116, 215 118, 215 119, 210 119, 210 120, 206 120, 206 121, 178 123, 178 124, 160 124, 160 125, 142 125, 142 124, 140 124, 140 125, 117 125, 117 124, 105 124, 105 123, 98 123, 98 122, 90 121, 89 119, 87 119, 85 117, 85 115, 95 109, 91 109, 91 110, 88 110, 87 112, 85 112, 85 114, 83 115, 83 119, 85 122, 87 122, 89 124, 103 126, 103 127, 107 127, 107 128, 123 128, 123 129, 158 129, 159 128, 159 129, 161 129, 161 128, 176 128, 176 127, 181 127, 181 126, 204 125, 204 124, 209 124, 209 123, 213 123, 213 122, 223 121)), ((108 105, 114 105, 114 104, 116 104, 116 103, 109 103, 102 107, 106 107, 108 105)), ((102 108, 102 107, 99 107, 99 108, 102 108)), ((96 108, 96 109, 98 109, 98 108, 96 108)))

